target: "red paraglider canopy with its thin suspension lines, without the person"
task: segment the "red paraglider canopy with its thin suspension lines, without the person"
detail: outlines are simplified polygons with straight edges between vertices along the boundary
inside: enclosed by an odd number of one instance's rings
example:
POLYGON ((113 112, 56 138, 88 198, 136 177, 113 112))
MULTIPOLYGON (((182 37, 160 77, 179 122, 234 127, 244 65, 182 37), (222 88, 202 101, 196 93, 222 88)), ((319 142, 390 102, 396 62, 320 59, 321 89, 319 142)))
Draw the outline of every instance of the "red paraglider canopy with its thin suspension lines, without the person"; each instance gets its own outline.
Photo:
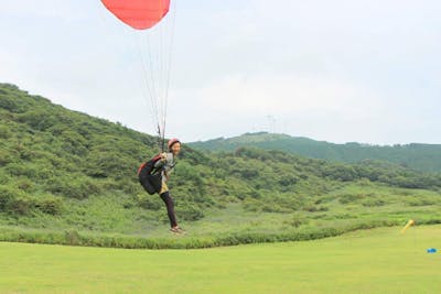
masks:
POLYGON ((101 0, 136 39, 142 95, 150 105, 150 117, 164 152, 165 122, 170 88, 175 6, 170 0, 101 0), (172 13, 169 13, 172 12, 172 13))

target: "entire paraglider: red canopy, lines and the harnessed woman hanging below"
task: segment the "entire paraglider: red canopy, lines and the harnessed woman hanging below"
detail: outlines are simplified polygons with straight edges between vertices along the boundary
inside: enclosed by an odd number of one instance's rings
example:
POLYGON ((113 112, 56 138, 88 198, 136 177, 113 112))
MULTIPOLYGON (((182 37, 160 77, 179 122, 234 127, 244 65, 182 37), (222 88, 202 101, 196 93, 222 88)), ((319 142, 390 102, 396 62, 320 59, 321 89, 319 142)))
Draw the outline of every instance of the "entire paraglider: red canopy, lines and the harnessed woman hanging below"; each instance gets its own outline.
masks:
POLYGON ((122 23, 133 29, 139 42, 142 64, 144 96, 150 102, 153 127, 158 131, 160 153, 138 170, 139 182, 150 195, 159 194, 170 219, 170 230, 184 233, 178 226, 174 203, 166 181, 170 178, 181 150, 178 139, 169 141, 164 152, 166 107, 170 85, 171 47, 174 19, 165 22, 170 0, 101 0, 103 4, 122 23))

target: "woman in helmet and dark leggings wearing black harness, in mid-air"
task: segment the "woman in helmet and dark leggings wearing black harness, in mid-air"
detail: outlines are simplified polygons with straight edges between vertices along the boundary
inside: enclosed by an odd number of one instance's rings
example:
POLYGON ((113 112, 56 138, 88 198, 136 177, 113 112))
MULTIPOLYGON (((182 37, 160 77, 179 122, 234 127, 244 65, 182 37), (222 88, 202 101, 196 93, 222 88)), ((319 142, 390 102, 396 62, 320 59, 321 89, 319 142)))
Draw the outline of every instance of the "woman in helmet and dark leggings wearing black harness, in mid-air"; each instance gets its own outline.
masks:
POLYGON ((176 216, 174 215, 174 203, 166 186, 166 181, 176 165, 175 160, 181 151, 181 142, 178 139, 171 139, 168 148, 169 152, 154 156, 139 167, 139 182, 147 193, 151 195, 158 193, 164 202, 170 219, 170 231, 183 233, 184 230, 178 226, 176 216))

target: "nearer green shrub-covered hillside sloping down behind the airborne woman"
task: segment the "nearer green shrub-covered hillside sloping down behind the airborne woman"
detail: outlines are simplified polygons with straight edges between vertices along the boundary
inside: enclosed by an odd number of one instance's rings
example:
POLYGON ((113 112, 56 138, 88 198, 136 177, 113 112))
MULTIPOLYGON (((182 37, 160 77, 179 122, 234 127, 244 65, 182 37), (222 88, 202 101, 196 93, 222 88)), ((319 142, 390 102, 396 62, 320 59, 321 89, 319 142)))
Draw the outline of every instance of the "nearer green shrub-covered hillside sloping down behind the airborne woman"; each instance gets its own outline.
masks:
POLYGON ((184 145, 170 186, 189 233, 176 239, 161 199, 137 182, 154 145, 120 123, 0 84, 0 240, 197 248, 441 220, 440 174, 184 145))

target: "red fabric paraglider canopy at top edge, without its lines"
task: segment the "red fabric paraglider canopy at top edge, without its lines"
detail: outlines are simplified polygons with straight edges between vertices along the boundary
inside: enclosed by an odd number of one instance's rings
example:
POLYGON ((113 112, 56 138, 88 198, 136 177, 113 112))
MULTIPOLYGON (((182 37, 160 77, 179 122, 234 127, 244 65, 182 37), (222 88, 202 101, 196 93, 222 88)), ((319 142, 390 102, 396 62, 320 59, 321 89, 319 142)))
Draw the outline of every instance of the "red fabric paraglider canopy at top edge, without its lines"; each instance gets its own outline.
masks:
POLYGON ((103 4, 133 29, 155 25, 169 12, 170 0, 101 0, 103 4))

